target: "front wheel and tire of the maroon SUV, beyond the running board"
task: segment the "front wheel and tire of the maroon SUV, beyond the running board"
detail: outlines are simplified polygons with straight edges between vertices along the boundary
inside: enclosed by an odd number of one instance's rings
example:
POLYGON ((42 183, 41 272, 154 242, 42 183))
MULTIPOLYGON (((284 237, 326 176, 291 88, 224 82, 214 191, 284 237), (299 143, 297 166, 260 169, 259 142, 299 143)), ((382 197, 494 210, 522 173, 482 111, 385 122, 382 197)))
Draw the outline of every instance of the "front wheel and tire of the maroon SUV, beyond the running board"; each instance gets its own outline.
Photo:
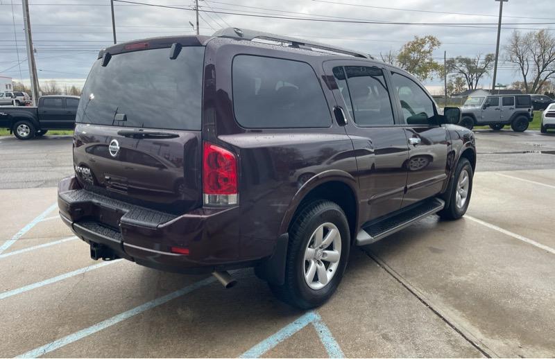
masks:
POLYGON ((438 212, 441 218, 445 220, 458 220, 464 216, 470 203, 470 195, 472 195, 473 175, 470 161, 464 157, 459 159, 459 163, 456 164, 453 182, 449 186, 449 204, 438 212))

